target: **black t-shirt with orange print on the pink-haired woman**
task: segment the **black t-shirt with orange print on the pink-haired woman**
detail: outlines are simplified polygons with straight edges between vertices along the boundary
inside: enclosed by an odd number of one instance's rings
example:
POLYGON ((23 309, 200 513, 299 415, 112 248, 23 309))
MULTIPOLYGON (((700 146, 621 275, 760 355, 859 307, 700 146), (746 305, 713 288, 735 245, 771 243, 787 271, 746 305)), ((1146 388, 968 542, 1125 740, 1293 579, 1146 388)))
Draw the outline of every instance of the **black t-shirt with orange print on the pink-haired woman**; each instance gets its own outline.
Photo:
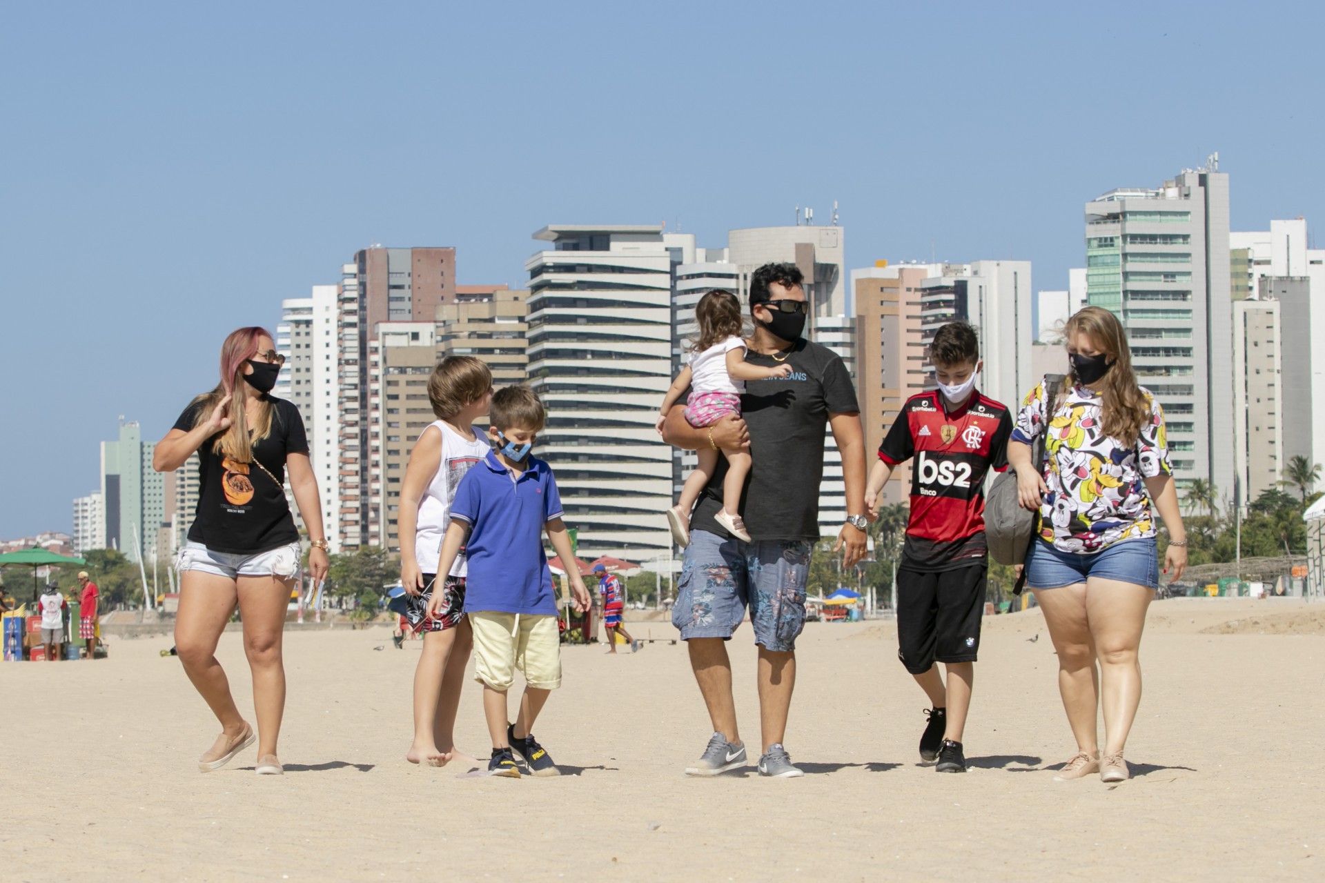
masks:
MULTIPOLYGON (((273 406, 272 432, 253 445, 257 463, 237 463, 213 450, 220 433, 197 449, 197 510, 188 539, 213 552, 256 555, 299 539, 285 499, 285 459, 307 454, 299 409, 284 398, 268 397, 273 406), (268 475, 270 473, 270 475, 268 475)), ((201 402, 193 402, 175 421, 192 432, 201 402)))

